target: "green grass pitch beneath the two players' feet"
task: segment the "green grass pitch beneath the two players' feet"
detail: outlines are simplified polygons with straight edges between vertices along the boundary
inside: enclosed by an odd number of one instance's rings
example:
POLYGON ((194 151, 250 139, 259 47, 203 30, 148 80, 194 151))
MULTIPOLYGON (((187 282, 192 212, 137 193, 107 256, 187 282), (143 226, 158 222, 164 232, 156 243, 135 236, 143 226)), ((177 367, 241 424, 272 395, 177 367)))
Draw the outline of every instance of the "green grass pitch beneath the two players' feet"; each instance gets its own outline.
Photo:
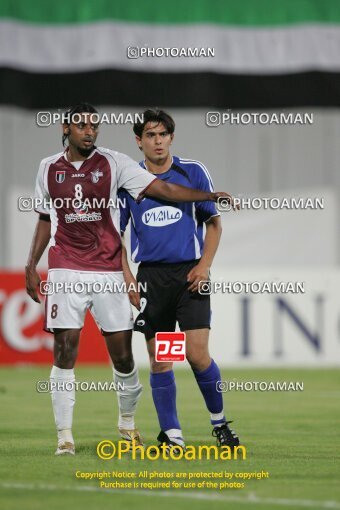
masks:
MULTIPOLYGON (((303 381, 303 392, 229 392, 228 418, 247 448, 246 460, 101 460, 96 445, 118 440, 115 394, 78 392, 74 414, 75 457, 55 457, 56 435, 49 394, 36 392, 49 367, 0 370, 1 507, 87 510, 131 508, 162 510, 340 509, 340 375, 338 370, 224 370, 238 381, 303 381), (148 471, 254 472, 269 479, 250 480, 243 489, 102 489, 98 480, 79 480, 75 472, 148 471)), ((109 367, 78 367, 78 381, 110 381, 109 367)), ((147 444, 159 432, 148 385, 137 424, 147 444)), ((187 444, 214 444, 203 399, 188 370, 177 370, 178 411, 187 444)), ((112 480, 110 480, 112 481, 112 480)), ((145 481, 145 480, 144 480, 145 481)), ((161 480, 163 481, 163 480, 161 480)), ((179 481, 179 480, 178 480, 179 481)), ((201 480, 195 480, 196 483, 201 480)), ((211 480, 220 482, 221 480, 211 480)), ((242 480, 241 480, 242 481, 242 480)))

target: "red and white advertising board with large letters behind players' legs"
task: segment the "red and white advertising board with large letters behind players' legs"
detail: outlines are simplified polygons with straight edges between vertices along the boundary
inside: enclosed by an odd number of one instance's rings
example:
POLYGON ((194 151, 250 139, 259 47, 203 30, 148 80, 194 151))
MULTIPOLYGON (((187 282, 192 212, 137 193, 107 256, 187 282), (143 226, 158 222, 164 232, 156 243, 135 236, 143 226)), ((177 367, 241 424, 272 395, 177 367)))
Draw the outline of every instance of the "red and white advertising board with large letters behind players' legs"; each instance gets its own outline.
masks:
MULTIPOLYGON (((51 364, 53 337, 42 330, 43 304, 29 299, 22 273, 0 276, 0 363, 51 364)), ((280 294, 219 290, 213 294, 210 348, 221 366, 339 366, 339 270, 216 266, 213 281, 299 282, 304 290, 280 294)), ((133 351, 138 365, 147 366, 140 333, 134 334, 133 351)), ((82 332, 78 362, 108 362, 103 339, 90 316, 82 332)))

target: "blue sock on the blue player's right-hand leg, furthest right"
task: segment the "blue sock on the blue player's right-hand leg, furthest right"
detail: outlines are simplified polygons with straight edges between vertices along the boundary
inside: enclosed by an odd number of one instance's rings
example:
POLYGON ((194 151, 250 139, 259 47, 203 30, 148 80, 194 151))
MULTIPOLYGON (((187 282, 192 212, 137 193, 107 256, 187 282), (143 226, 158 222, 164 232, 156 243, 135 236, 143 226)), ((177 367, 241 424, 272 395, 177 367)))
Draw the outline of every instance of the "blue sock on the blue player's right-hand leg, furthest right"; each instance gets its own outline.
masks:
POLYGON ((212 359, 208 368, 202 372, 193 370, 197 384, 205 400, 210 421, 214 426, 223 425, 226 422, 223 412, 222 393, 217 391, 217 382, 221 380, 221 372, 212 359))

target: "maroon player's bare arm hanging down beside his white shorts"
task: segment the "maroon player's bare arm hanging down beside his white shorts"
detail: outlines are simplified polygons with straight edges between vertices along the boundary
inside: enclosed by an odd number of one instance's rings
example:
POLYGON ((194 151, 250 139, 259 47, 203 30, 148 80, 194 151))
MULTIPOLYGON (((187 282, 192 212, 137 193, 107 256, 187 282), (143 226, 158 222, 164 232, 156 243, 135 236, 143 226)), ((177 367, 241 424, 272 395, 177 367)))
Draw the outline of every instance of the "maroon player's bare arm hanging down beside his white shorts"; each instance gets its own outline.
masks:
POLYGON ((48 245, 50 237, 51 223, 49 221, 39 219, 33 234, 31 249, 27 265, 25 267, 26 291, 36 303, 40 303, 37 291, 40 284, 40 276, 37 273, 36 267, 46 249, 46 246, 48 245))

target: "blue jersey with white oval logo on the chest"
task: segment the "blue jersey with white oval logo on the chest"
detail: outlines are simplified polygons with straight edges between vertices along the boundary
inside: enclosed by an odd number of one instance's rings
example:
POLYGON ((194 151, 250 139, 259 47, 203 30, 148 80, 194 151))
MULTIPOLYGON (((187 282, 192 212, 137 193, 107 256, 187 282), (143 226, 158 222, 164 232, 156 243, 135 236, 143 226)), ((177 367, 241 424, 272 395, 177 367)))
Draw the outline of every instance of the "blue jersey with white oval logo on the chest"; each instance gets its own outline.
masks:
MULTIPOLYGON (((145 168, 144 161, 140 165, 145 168)), ((171 184, 214 191, 202 163, 173 157, 167 172, 155 177, 171 184)), ((186 262, 199 259, 203 250, 203 224, 218 216, 214 202, 167 202, 144 198, 138 204, 120 190, 120 228, 131 218, 131 258, 134 262, 186 262)))

